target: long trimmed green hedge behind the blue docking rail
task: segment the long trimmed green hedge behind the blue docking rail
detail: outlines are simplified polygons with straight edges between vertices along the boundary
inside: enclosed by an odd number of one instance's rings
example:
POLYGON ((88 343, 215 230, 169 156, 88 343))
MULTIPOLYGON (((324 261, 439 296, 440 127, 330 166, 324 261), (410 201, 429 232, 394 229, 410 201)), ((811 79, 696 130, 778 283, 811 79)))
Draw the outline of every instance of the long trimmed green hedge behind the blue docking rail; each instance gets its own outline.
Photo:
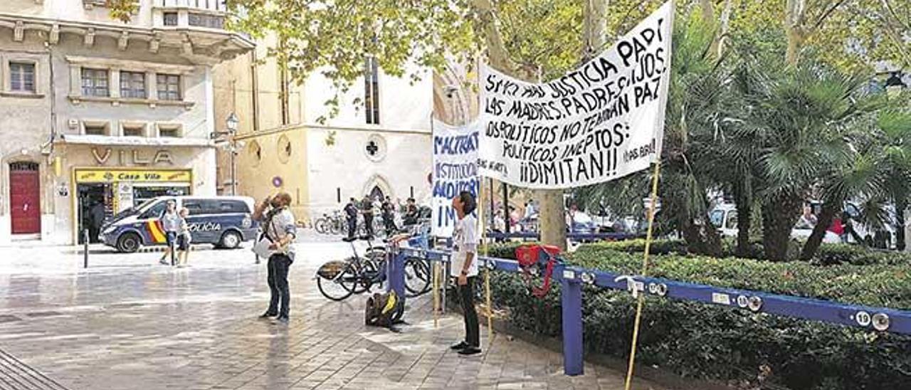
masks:
MULTIPOLYGON (((568 262, 609 272, 638 272, 636 253, 583 246, 568 262)), ((515 245, 491 249, 513 257, 515 245)), ((761 262, 658 255, 650 275, 717 286, 778 292, 911 309, 911 267, 906 264, 828 267, 806 262, 761 262)), ((559 285, 543 300, 531 297, 517 274, 494 272, 494 303, 523 329, 557 337, 559 285)), ((635 310, 627 292, 586 286, 585 344, 589 352, 629 354, 635 310)), ((794 390, 911 388, 911 337, 804 321, 702 303, 648 298, 640 333, 640 364, 684 376, 753 381, 768 367, 769 381, 794 390)), ((768 385, 768 384, 766 384, 768 385)))

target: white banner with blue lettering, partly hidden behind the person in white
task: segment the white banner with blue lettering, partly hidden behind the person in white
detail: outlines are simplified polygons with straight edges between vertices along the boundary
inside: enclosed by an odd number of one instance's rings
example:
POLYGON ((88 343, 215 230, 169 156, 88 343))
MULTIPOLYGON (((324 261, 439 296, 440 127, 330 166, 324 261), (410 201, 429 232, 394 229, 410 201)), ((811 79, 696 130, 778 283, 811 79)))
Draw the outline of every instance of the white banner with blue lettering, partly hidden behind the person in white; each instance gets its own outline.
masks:
POLYGON ((434 120, 434 192, 430 207, 431 234, 452 237, 455 210, 452 200, 467 190, 477 197, 481 182, 477 176, 478 122, 453 127, 434 120))

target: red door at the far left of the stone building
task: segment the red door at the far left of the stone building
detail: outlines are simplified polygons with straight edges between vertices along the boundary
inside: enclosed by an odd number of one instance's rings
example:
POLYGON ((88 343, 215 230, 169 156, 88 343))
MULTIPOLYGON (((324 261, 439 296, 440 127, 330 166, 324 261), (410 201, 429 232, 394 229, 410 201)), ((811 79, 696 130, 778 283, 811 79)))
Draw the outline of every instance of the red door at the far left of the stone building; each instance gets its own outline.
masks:
POLYGON ((38 164, 14 162, 9 165, 9 209, 13 234, 41 232, 41 194, 38 164))

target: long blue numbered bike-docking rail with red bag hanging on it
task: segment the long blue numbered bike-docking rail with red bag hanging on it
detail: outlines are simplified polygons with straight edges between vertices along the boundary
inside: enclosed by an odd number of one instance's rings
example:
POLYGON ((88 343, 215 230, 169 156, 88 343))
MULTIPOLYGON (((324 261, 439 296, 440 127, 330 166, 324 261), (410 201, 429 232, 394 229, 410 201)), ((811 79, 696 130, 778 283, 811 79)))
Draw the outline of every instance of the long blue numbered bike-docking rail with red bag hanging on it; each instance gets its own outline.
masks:
MULTIPOLYGON (((391 290, 404 294, 404 260, 406 258, 417 257, 428 262, 448 262, 449 251, 425 248, 425 242, 417 240, 403 242, 394 248, 393 262, 389 262, 391 277, 389 288, 391 290)), ((537 299, 537 296, 547 293, 548 278, 552 277, 554 282, 560 283, 562 292, 560 305, 563 315, 563 372, 565 375, 583 374, 582 286, 584 284, 604 289, 628 291, 634 297, 644 294, 659 299, 670 298, 708 303, 752 313, 769 313, 854 326, 875 332, 911 334, 911 311, 589 270, 567 265, 559 259, 552 247, 542 247, 537 244, 519 247, 517 249, 519 261, 486 256, 479 256, 478 259, 487 270, 518 272, 536 280, 542 279, 543 283, 540 286, 529 285, 532 292, 529 299, 537 299)), ((618 336, 627 337, 628 335, 618 336)))

